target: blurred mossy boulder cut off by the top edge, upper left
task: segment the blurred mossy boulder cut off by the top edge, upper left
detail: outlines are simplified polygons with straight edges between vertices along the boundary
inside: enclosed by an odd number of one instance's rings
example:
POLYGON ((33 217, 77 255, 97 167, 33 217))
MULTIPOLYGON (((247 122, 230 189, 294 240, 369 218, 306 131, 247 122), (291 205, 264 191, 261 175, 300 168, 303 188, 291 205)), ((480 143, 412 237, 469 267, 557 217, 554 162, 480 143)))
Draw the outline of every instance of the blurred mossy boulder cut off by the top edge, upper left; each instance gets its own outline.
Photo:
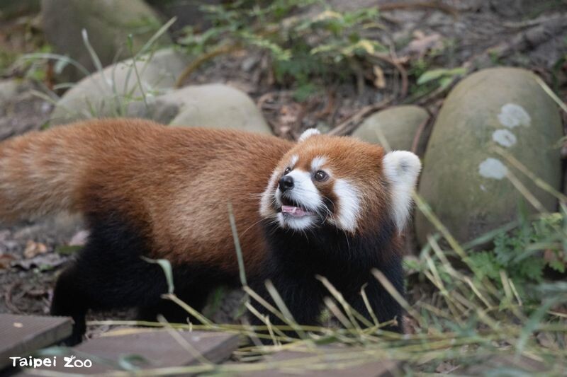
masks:
MULTIPOLYGON (((43 31, 55 52, 77 60, 88 71, 95 65, 82 37, 85 29, 89 42, 102 66, 132 57, 128 35, 133 35, 133 52, 137 52, 162 23, 152 8, 142 0, 42 0, 43 31)), ((162 44, 171 40, 162 35, 162 44)), ((68 66, 65 79, 77 81, 82 73, 68 66)))

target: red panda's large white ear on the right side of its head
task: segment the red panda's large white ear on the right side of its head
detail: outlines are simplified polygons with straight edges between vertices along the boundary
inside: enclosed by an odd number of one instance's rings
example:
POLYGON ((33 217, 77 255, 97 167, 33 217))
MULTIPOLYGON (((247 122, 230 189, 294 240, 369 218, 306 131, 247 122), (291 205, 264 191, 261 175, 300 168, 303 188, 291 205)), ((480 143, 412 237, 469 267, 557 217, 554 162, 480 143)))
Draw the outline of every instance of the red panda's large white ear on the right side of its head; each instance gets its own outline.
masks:
POLYGON ((398 231, 402 231, 410 216, 412 192, 420 174, 420 158, 408 151, 393 151, 383 158, 383 170, 390 182, 392 214, 398 231))

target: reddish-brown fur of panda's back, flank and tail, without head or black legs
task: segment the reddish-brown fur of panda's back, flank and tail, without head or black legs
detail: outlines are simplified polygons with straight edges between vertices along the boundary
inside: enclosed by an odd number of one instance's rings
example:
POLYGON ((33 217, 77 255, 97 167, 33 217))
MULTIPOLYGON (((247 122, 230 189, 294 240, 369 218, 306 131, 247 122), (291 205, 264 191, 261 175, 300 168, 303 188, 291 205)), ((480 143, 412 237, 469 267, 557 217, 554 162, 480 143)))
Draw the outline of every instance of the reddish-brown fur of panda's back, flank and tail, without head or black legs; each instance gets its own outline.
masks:
POLYGON ((130 119, 30 132, 0 144, 0 218, 118 210, 147 234, 156 257, 232 270, 231 202, 252 273, 265 253, 259 195, 292 146, 276 137, 130 119))

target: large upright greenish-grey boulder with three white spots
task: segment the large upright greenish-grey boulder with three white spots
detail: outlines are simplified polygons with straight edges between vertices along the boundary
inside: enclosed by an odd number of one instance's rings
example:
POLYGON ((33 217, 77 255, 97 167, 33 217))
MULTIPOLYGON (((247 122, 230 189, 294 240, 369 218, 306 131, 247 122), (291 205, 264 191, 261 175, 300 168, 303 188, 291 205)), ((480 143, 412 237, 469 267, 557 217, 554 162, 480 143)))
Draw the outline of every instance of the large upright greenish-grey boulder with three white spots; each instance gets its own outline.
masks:
MULTIPOLYGON (((524 197, 508 173, 546 209, 556 208, 552 195, 491 148, 504 149, 551 187, 559 188, 561 119, 556 104, 535 79, 524 69, 479 71, 451 91, 439 112, 425 153, 419 193, 461 242, 516 218, 524 197)), ((427 234, 436 231, 420 211, 416 230, 422 245, 427 234)))

